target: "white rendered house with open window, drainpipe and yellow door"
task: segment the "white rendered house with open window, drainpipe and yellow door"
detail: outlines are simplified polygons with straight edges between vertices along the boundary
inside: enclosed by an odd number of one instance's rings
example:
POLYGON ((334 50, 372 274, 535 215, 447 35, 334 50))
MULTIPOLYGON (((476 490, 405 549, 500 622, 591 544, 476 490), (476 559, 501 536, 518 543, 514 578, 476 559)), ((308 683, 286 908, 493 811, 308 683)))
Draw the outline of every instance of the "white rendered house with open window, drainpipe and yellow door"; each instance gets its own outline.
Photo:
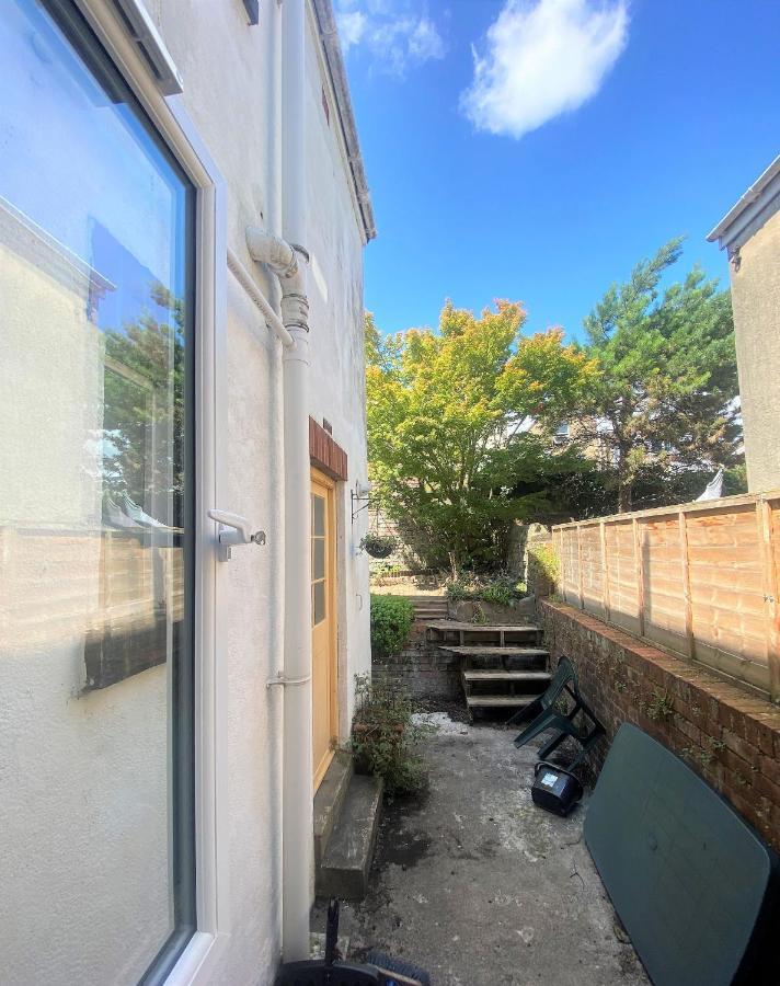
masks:
POLYGON ((370 669, 331 3, 8 0, 0 60, 0 979, 269 983, 370 669))

